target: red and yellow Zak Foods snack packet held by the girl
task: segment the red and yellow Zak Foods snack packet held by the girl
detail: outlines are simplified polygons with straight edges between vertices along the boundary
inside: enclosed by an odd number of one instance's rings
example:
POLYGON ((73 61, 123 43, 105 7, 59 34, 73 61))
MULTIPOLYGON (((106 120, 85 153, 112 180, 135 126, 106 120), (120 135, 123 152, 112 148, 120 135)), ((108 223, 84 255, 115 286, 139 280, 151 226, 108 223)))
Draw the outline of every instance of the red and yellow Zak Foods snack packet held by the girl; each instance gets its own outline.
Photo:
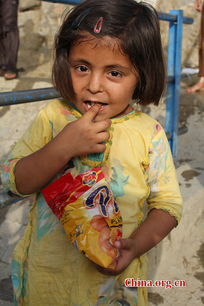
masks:
POLYGON ((98 265, 115 269, 120 251, 114 241, 122 238, 122 218, 100 167, 75 179, 67 173, 42 193, 75 248, 98 265))

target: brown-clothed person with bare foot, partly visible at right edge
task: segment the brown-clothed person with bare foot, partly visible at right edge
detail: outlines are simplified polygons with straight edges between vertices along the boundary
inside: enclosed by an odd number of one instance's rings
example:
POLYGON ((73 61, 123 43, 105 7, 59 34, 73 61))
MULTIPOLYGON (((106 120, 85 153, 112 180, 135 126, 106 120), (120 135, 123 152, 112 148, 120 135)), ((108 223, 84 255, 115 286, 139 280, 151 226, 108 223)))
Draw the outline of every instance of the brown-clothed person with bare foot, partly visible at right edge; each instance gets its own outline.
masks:
POLYGON ((186 89, 187 93, 194 93, 197 90, 204 91, 204 4, 201 8, 201 0, 196 0, 195 8, 197 11, 202 11, 201 28, 199 35, 199 81, 194 86, 186 89))

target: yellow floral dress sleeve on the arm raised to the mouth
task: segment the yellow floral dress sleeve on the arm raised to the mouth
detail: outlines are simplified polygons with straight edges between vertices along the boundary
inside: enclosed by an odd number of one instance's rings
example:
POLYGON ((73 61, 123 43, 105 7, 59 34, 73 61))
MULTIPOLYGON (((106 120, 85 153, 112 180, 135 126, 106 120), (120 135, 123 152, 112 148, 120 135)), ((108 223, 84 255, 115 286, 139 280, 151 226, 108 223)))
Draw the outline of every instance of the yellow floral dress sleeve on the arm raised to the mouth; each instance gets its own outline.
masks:
POLYGON ((11 155, 3 165, 1 180, 4 191, 11 197, 25 197, 30 195, 21 195, 15 184, 15 165, 17 162, 40 148, 42 148, 52 138, 52 122, 49 120, 46 111, 42 109, 35 117, 34 121, 25 131, 23 136, 17 142, 11 155))

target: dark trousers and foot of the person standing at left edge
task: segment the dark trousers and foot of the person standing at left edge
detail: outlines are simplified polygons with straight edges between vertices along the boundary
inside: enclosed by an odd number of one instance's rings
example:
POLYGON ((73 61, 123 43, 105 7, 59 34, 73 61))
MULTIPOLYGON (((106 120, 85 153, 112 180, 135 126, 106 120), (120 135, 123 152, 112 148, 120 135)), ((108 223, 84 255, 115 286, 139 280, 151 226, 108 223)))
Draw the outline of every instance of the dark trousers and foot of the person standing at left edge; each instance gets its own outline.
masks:
MULTIPOLYGON (((3 38, 1 46, 3 47, 2 70, 5 70, 6 79, 16 78, 17 54, 19 47, 19 30, 17 26, 17 9, 19 0, 0 0, 1 1, 1 20, 3 38)), ((1 54, 0 54, 1 55, 1 54)))

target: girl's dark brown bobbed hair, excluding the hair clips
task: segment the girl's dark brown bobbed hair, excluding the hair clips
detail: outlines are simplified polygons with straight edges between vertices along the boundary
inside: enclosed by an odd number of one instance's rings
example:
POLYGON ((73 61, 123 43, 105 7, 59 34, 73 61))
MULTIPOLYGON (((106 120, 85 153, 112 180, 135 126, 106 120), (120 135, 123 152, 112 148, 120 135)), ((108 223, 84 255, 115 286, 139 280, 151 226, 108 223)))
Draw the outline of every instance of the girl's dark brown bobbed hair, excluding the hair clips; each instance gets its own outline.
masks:
POLYGON ((148 3, 135 0, 85 0, 67 13, 55 37, 52 82, 65 100, 74 100, 69 50, 76 42, 92 37, 115 39, 119 50, 126 54, 137 70, 139 79, 133 100, 143 106, 158 105, 166 85, 166 66, 161 43, 160 22, 156 10, 148 3), (77 30, 71 25, 85 9, 95 6, 82 20, 77 30), (96 22, 103 17, 99 33, 96 22))

